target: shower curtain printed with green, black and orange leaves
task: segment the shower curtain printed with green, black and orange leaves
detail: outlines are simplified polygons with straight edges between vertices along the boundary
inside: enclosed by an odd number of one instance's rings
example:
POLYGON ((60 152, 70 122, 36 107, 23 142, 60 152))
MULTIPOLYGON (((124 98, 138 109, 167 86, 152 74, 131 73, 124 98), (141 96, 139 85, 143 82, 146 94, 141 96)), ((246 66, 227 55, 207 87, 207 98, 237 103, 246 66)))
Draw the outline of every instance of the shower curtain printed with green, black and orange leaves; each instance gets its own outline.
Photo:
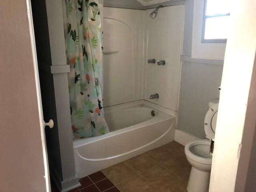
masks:
POLYGON ((109 132, 102 102, 103 0, 65 0, 65 41, 72 131, 75 138, 109 132))

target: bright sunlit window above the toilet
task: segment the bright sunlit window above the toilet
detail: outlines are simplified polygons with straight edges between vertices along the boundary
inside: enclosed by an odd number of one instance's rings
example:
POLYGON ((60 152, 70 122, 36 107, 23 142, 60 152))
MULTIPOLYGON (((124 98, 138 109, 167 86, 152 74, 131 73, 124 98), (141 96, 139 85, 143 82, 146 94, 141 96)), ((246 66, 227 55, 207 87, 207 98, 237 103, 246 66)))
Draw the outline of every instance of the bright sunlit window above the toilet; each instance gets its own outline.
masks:
POLYGON ((204 0, 202 43, 226 43, 230 26, 230 0, 204 0))

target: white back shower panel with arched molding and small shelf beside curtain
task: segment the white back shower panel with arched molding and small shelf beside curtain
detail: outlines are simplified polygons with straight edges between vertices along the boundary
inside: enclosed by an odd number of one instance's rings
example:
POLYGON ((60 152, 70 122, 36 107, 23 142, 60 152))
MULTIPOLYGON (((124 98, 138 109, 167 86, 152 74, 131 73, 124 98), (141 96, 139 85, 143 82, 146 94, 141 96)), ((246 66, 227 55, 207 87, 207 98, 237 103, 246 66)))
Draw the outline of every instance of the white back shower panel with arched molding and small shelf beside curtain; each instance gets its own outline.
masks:
POLYGON ((144 11, 104 7, 104 106, 143 98, 144 11))

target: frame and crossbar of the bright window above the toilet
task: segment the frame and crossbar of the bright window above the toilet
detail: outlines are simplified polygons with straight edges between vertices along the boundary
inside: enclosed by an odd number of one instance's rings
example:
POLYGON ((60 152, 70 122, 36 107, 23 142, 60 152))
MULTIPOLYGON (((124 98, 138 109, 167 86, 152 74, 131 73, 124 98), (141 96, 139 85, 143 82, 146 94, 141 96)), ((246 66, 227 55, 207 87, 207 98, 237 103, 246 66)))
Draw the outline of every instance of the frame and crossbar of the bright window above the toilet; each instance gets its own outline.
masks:
POLYGON ((203 14, 203 23, 202 23, 202 35, 201 35, 201 43, 226 43, 227 39, 205 39, 205 24, 207 18, 214 17, 222 17, 222 16, 230 16, 230 13, 227 14, 215 14, 211 16, 206 16, 206 8, 207 8, 207 0, 204 0, 204 14, 203 14))

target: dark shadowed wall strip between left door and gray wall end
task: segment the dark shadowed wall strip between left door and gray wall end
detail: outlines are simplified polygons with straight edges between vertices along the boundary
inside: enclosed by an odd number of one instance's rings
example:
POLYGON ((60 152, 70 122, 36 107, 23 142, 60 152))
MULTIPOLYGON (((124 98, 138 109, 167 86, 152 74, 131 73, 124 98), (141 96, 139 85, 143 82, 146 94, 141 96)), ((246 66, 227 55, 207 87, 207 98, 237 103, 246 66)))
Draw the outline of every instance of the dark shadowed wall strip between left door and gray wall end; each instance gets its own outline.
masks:
POLYGON ((50 52, 50 40, 48 32, 48 22, 46 15, 45 1, 31 0, 34 33, 36 38, 36 53, 38 59, 40 89, 42 97, 42 106, 44 112, 44 120, 54 120, 54 128, 50 129, 46 127, 46 143, 48 152, 49 167, 53 167, 58 172, 60 179, 62 180, 62 168, 60 160, 60 145, 58 136, 58 122, 56 114, 56 104, 54 97, 54 83, 52 74, 42 70, 42 65, 51 65, 51 52, 50 52), (51 98, 51 99, 49 99, 51 98))

